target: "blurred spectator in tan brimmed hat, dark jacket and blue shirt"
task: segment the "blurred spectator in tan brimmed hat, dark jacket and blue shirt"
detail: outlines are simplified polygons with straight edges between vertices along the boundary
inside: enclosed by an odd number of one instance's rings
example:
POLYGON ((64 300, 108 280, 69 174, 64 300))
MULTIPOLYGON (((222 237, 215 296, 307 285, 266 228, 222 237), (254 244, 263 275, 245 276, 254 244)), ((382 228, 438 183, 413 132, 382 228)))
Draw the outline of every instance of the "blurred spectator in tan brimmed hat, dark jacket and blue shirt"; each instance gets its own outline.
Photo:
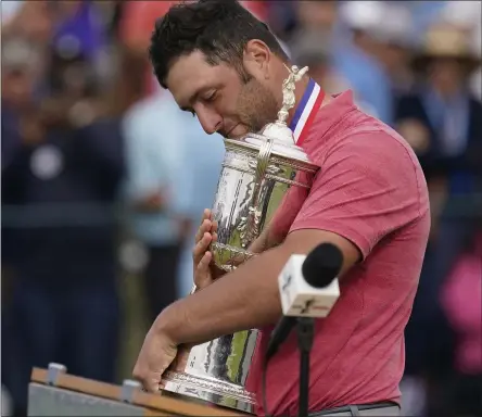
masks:
POLYGON ((471 151, 482 128, 477 117, 481 103, 467 87, 480 56, 470 50, 465 31, 442 25, 428 31, 414 65, 422 81, 418 92, 398 102, 398 130, 417 151, 429 181, 443 176, 452 191, 461 191, 471 181, 456 174, 466 167, 478 170, 480 163, 471 151))

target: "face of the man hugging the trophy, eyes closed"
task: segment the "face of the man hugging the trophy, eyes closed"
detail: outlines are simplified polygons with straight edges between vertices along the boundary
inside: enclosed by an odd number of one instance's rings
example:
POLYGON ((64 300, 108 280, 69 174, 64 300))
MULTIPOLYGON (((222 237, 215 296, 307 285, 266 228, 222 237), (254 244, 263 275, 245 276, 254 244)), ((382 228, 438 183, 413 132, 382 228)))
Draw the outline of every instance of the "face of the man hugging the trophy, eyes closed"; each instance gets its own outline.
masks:
POLYGON ((248 59, 240 74, 225 63, 210 65, 194 51, 173 64, 166 84, 179 108, 195 113, 206 134, 240 138, 274 122, 279 110, 272 76, 266 76, 269 63, 262 60, 248 59))

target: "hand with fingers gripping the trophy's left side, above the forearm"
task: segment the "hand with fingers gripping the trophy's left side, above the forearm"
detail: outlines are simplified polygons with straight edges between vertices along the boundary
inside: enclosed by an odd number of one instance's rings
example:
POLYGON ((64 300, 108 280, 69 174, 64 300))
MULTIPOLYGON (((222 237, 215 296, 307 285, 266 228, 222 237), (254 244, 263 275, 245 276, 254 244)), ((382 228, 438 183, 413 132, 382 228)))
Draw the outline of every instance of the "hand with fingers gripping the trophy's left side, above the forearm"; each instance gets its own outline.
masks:
POLYGON ((212 219, 211 210, 204 210, 201 226, 195 233, 195 244, 192 251, 194 265, 194 283, 201 290, 219 278, 225 273, 213 262, 210 245, 217 239, 217 223, 212 219))

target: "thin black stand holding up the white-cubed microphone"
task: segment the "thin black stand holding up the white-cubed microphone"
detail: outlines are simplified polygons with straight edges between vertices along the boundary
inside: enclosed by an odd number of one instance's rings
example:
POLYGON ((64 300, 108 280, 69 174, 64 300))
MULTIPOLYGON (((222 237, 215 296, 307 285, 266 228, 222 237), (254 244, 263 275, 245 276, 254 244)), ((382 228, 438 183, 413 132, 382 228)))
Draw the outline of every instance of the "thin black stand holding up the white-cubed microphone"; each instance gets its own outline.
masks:
POLYGON ((313 346, 315 319, 313 317, 297 318, 297 346, 300 350, 300 395, 299 417, 308 416, 309 397, 309 354, 313 346))

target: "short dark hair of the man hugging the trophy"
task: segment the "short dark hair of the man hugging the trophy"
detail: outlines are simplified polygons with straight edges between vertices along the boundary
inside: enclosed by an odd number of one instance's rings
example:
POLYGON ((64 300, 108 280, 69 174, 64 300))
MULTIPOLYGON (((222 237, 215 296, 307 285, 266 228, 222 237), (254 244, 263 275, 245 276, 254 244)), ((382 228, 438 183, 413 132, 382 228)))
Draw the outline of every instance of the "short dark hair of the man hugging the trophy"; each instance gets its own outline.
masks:
POLYGON ((157 20, 151 36, 149 55, 161 86, 174 61, 199 50, 206 62, 234 66, 242 74, 242 58, 248 41, 259 39, 283 61, 281 46, 268 26, 236 0, 199 0, 173 5, 157 20))

